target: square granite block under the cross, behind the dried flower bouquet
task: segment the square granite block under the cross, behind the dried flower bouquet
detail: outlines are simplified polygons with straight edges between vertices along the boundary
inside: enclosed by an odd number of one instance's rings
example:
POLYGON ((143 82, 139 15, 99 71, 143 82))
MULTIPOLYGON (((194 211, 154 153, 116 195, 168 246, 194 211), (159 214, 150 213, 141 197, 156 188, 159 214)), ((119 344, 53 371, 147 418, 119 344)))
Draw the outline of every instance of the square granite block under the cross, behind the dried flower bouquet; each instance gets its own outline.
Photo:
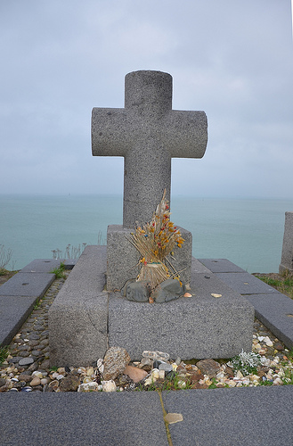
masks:
MULTIPOLYGON (((185 239, 182 248, 175 247, 172 265, 180 273, 185 284, 191 282, 192 235, 183 227, 178 227, 185 239)), ((120 290, 126 281, 138 275, 137 264, 140 253, 129 242, 134 229, 120 225, 110 225, 107 231, 107 290, 120 290), (127 240, 128 239, 128 240, 127 240)))

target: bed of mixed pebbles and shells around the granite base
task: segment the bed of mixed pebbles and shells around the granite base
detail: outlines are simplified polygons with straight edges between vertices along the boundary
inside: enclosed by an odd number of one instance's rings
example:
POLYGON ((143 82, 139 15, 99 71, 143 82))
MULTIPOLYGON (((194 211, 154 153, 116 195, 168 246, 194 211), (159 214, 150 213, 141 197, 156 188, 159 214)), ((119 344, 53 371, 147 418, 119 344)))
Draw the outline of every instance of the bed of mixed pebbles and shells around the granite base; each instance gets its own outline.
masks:
MULTIPOLYGON (((66 274, 69 275, 69 272, 66 274)), ((143 351, 141 361, 134 364, 123 348, 112 350, 108 358, 97 359, 91 367, 66 367, 52 371, 47 313, 63 283, 64 279, 53 282, 37 310, 32 312, 20 332, 14 336, 8 347, 10 356, 0 366, 0 392, 115 392, 132 391, 141 385, 145 389, 152 386, 163 389, 207 389, 210 385, 221 388, 256 386, 265 382, 272 385, 293 384, 291 378, 286 377, 288 371, 293 376, 289 351, 257 319, 252 351, 261 354, 262 366, 256 375, 243 376, 240 371, 212 359, 194 361, 196 364, 193 361, 192 364, 185 363, 181 358, 172 360, 165 351, 143 351), (110 370, 109 357, 113 369, 116 367, 114 372, 110 370), (140 379, 126 375, 126 367, 140 379)))

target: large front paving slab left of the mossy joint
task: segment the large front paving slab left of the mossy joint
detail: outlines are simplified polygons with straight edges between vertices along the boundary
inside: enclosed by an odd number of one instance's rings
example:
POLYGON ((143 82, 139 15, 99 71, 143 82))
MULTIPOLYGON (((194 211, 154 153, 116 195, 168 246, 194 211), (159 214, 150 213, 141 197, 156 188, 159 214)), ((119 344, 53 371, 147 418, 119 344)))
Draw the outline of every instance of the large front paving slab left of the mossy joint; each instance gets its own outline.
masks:
POLYGON ((2 446, 168 446, 157 392, 0 393, 2 446))

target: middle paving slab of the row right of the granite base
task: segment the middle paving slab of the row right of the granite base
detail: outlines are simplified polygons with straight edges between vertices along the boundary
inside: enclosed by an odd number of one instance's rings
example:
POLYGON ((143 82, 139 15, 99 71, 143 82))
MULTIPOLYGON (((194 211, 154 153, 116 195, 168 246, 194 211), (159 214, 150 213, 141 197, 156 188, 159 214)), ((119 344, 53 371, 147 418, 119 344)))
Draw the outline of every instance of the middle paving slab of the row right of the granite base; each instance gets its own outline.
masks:
POLYGON ((240 294, 275 293, 276 290, 249 273, 215 273, 224 284, 240 294))

